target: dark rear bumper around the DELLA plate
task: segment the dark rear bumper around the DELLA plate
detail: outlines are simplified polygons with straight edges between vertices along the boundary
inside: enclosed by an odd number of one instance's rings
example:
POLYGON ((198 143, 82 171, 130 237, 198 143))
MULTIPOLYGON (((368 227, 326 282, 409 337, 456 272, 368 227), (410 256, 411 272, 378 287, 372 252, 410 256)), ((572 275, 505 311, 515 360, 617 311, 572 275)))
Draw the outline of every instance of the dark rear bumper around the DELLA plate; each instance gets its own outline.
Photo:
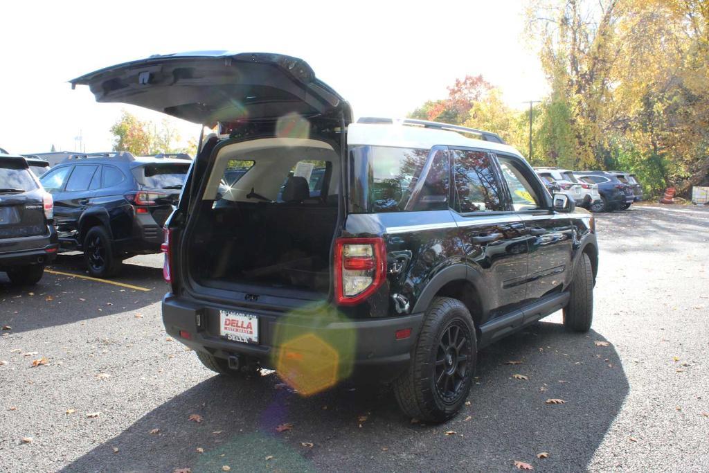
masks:
MULTIPOLYGON (((222 309, 235 310, 233 307, 222 309)), ((335 359, 339 365, 338 372, 358 381, 389 382, 398 377, 408 367, 413 345, 423 323, 423 313, 366 320, 338 318, 335 321, 319 316, 316 321, 307 316, 282 316, 247 309, 245 312, 259 316, 259 343, 248 344, 218 336, 219 310, 218 306, 197 304, 172 294, 166 294, 162 299, 165 330, 175 340, 196 351, 208 352, 225 360, 231 355, 244 355, 258 360, 262 367, 278 369, 281 350, 294 340, 290 335, 279 338, 278 334, 298 334, 296 338, 304 334, 313 335, 311 340, 328 345, 337 353, 335 359), (197 325, 198 315, 200 326, 197 325), (406 328, 411 328, 411 335, 396 340, 396 331, 406 328), (180 330, 190 333, 191 340, 181 337, 180 330), (354 346, 342 349, 335 346, 336 340, 352 340, 354 346)))

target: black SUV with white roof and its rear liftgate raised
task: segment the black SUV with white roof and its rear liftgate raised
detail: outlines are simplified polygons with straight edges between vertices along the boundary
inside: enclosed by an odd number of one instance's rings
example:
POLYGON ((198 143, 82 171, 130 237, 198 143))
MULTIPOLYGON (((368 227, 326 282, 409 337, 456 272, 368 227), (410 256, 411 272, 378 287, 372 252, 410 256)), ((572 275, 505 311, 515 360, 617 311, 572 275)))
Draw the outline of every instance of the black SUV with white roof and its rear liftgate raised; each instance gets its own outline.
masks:
POLYGON ((376 379, 409 416, 444 421, 481 347, 562 308, 569 329, 591 326, 593 216, 497 135, 352 123, 283 55, 151 57, 72 82, 218 128, 166 223, 162 316, 219 374, 276 369, 305 396, 376 379))

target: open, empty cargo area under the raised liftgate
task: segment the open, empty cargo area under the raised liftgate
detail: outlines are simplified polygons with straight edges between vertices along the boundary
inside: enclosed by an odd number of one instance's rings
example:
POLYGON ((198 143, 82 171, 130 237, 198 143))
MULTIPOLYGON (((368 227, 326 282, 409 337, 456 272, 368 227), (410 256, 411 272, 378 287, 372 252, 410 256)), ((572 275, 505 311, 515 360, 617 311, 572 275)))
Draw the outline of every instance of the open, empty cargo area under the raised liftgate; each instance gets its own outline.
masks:
POLYGON ((218 152, 188 223, 191 279, 327 294, 339 156, 317 140, 264 138, 218 152))

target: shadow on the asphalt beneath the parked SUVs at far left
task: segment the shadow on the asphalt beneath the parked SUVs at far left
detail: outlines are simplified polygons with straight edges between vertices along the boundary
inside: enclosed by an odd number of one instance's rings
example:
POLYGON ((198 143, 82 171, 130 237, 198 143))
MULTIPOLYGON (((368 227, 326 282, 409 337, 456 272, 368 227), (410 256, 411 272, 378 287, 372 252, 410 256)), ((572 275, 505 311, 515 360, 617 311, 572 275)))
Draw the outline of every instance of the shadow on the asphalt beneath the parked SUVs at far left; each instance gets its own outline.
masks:
MULTIPOLYGON (((59 255, 47 269, 86 275, 82 255, 59 255)), ((154 267, 125 264, 121 274, 108 281, 150 290, 50 272, 35 286, 14 286, 0 272, 0 323, 11 326, 9 333, 38 330, 144 308, 167 292, 162 269, 154 267)))

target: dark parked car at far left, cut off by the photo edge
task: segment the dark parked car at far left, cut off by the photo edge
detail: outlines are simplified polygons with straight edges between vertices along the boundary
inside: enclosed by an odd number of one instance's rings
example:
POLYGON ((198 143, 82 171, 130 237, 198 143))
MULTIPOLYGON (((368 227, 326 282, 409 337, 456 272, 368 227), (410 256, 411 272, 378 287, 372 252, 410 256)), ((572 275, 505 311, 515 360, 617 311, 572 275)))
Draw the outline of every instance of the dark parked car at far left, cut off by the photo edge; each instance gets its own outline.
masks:
POLYGON ((36 284, 56 257, 53 210, 25 158, 0 154, 0 271, 14 284, 36 284))

